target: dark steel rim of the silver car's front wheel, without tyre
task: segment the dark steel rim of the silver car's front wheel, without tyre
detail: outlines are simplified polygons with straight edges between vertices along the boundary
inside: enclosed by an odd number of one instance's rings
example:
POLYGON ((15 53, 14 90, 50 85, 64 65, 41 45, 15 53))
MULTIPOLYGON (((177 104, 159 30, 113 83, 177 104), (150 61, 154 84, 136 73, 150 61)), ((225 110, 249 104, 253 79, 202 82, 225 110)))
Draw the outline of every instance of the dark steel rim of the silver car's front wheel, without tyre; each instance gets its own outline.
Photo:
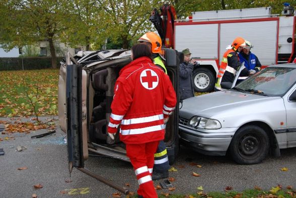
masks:
POLYGON ((239 143, 239 149, 243 155, 254 155, 259 150, 259 141, 254 136, 244 136, 239 143))

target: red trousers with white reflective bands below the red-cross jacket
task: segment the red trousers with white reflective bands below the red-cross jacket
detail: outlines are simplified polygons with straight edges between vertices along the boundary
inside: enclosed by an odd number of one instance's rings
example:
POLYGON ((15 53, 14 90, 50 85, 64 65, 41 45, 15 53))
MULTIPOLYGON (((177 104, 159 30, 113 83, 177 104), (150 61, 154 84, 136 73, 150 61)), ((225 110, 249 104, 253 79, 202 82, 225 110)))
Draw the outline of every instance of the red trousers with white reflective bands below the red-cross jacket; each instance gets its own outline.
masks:
POLYGON ((158 144, 159 141, 144 144, 126 144, 126 155, 130 159, 139 184, 137 192, 138 195, 142 195, 144 198, 158 197, 151 178, 154 154, 158 144))

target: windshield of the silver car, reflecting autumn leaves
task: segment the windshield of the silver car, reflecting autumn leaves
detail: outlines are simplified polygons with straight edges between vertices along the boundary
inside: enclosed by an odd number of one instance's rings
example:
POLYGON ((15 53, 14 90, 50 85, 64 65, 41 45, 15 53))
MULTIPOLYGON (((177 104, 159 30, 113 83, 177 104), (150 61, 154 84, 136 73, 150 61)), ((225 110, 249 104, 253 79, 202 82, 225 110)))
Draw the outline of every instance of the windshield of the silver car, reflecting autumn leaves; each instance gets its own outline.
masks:
POLYGON ((236 88, 266 96, 283 96, 295 81, 295 68, 269 67, 244 80, 236 88))

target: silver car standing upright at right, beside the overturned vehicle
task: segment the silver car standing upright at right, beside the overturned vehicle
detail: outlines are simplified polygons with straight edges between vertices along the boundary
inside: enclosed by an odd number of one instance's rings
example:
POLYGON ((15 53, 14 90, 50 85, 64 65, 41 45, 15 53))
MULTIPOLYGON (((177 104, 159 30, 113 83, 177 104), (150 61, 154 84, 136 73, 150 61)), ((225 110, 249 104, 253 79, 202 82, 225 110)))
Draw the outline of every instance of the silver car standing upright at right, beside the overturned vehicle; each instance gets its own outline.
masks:
POLYGON ((235 87, 221 85, 230 90, 184 100, 181 144, 206 155, 229 152, 239 164, 260 163, 269 151, 279 156, 280 149, 296 147, 295 82, 296 64, 273 65, 235 87))

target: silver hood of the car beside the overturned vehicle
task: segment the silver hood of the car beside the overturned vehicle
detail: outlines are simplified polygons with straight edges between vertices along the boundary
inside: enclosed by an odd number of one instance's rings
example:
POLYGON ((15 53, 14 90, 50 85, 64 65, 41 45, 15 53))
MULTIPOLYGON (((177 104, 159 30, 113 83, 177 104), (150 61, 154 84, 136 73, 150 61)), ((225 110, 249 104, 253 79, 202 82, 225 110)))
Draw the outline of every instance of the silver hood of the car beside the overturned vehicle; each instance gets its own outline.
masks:
MULTIPOLYGON (((188 98, 183 101, 180 109, 180 117, 191 118, 193 115, 199 115, 211 118, 220 117, 221 114, 233 114, 246 109, 250 111, 261 111, 270 102, 279 100, 280 97, 267 97, 256 94, 248 94, 236 91, 218 91, 204 94, 197 97, 188 98), (269 101, 269 102, 268 102, 269 101)), ((181 106, 181 105, 180 105, 181 106)))

